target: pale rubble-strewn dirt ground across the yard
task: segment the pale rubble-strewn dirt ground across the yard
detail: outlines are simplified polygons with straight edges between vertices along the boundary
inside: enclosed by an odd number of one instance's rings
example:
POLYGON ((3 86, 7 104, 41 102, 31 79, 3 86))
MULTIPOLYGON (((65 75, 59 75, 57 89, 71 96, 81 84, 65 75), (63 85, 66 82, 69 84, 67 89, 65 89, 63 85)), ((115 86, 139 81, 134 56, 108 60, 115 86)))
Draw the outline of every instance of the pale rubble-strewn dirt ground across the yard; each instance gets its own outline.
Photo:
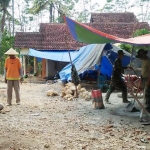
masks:
MULTIPOLYGON (((139 113, 125 112, 117 93, 111 105, 94 110, 92 100, 48 97, 60 85, 23 83, 21 105, 6 106, 6 84, 0 83, 0 150, 150 150, 149 126, 139 113)), ((103 93, 103 97, 105 93, 103 93)))

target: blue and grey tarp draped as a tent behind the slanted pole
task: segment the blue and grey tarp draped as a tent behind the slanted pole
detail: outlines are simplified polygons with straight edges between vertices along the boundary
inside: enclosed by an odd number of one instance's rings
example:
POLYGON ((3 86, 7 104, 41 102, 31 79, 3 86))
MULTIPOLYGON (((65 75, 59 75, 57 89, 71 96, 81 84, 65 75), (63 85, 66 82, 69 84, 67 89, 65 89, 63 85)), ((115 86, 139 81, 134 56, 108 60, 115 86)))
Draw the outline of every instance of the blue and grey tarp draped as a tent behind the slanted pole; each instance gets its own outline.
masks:
MULTIPOLYGON (((87 70, 100 70, 100 72, 111 77, 113 64, 117 58, 120 48, 113 44, 90 44, 79 49, 78 55, 72 59, 78 74, 87 70), (97 67, 96 67, 97 66, 97 67)), ((124 51, 123 66, 127 66, 131 60, 131 54, 124 51)), ((71 64, 69 63, 59 72, 62 81, 71 80, 71 64)))

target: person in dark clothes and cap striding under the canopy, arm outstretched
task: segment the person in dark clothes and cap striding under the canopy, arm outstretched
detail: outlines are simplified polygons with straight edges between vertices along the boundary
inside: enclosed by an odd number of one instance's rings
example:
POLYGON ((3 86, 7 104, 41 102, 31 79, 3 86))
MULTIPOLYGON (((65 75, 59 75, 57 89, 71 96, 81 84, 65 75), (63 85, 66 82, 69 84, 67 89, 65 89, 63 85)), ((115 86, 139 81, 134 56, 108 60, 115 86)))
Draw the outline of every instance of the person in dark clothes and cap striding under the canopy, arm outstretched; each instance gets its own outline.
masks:
POLYGON ((115 60, 115 63, 114 63, 111 83, 109 85, 109 89, 105 96, 105 102, 108 104, 110 104, 109 97, 115 89, 120 89, 122 91, 123 103, 129 103, 127 99, 127 87, 126 87, 124 80, 122 79, 122 74, 124 74, 124 69, 127 69, 127 68, 131 69, 131 67, 122 66, 121 60, 123 57, 124 57, 123 50, 118 50, 118 58, 115 60))

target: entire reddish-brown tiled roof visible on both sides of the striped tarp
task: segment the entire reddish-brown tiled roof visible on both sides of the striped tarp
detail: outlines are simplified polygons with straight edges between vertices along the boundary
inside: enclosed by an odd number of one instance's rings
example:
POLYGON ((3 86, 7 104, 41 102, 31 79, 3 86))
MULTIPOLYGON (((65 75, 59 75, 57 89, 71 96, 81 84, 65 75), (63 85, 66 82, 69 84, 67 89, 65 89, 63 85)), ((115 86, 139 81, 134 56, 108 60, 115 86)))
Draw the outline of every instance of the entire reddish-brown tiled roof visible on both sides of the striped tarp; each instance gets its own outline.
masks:
MULTIPOLYGON (((133 13, 93 13, 93 22, 86 25, 121 38, 130 38, 136 29, 150 30, 148 23, 138 22, 133 13)), ((65 24, 41 23, 38 33, 17 32, 16 48, 43 50, 77 50, 83 43, 73 40, 65 24)))

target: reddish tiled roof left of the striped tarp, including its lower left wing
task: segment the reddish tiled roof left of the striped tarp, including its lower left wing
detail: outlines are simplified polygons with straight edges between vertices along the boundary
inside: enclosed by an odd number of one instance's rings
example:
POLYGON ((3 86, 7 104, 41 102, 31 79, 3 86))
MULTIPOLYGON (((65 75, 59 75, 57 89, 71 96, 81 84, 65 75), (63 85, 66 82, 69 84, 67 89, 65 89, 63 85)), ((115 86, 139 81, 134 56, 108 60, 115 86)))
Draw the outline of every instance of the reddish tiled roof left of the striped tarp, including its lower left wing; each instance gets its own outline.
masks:
POLYGON ((77 50, 83 43, 73 40, 65 24, 41 23, 39 33, 17 32, 15 47, 40 50, 77 50))

